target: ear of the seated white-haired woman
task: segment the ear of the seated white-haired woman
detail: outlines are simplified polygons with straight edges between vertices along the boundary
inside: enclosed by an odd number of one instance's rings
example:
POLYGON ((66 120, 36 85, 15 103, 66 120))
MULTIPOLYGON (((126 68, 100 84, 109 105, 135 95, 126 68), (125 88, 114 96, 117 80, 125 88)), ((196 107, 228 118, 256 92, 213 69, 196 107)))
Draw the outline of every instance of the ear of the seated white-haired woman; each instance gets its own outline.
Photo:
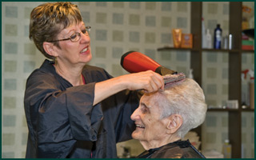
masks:
POLYGON ((183 123, 183 118, 179 114, 171 114, 168 117, 168 124, 167 124, 167 134, 174 134, 183 123))

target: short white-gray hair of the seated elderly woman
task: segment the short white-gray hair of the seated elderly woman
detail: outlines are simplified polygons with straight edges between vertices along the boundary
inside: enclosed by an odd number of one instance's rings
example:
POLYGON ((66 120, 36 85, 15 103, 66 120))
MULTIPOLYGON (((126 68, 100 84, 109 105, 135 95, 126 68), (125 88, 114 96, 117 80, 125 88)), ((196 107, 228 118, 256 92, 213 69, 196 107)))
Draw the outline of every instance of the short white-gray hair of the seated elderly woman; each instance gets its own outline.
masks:
POLYGON ((177 131, 180 138, 204 122, 207 110, 205 95, 193 79, 186 78, 184 82, 159 93, 158 105, 162 107, 160 118, 166 118, 171 114, 179 114, 183 118, 183 124, 177 131))

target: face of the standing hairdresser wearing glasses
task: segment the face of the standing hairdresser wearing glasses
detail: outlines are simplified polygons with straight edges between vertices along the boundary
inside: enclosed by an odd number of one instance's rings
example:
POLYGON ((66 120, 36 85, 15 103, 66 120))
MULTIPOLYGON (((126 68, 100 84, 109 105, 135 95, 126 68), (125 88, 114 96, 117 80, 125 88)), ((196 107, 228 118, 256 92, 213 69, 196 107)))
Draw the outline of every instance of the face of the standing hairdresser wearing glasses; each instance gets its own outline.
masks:
POLYGON ((70 38, 74 33, 80 33, 81 38, 78 42, 71 42, 70 40, 60 41, 58 49, 58 62, 63 62, 66 65, 84 64, 90 62, 92 58, 90 50, 90 36, 86 33, 86 26, 84 22, 73 24, 62 30, 58 34, 58 39, 70 38), (85 34, 86 33, 86 34, 85 34))

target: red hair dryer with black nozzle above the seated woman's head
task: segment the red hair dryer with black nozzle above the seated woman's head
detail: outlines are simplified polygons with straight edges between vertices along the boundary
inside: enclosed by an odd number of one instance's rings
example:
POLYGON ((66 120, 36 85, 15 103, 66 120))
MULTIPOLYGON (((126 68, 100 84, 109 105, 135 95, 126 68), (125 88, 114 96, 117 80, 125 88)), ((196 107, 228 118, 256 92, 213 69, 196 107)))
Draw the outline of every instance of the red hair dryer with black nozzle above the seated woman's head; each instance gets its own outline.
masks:
POLYGON ((121 58, 121 66, 130 73, 153 70, 161 75, 177 74, 176 71, 163 67, 145 54, 136 51, 129 51, 126 52, 126 54, 123 54, 121 58))

